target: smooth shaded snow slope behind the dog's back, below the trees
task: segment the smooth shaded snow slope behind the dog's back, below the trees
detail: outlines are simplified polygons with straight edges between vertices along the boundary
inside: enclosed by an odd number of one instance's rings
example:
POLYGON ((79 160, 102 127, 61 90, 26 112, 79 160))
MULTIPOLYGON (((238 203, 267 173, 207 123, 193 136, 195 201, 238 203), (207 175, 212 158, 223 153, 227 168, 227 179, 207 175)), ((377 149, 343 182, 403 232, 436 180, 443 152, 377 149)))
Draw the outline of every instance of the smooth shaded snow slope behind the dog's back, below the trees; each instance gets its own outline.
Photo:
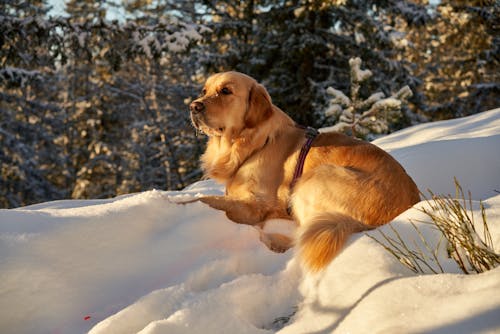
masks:
POLYGON ((374 144, 400 161, 424 193, 455 194, 453 176, 477 199, 500 190, 500 109, 416 125, 374 144))

